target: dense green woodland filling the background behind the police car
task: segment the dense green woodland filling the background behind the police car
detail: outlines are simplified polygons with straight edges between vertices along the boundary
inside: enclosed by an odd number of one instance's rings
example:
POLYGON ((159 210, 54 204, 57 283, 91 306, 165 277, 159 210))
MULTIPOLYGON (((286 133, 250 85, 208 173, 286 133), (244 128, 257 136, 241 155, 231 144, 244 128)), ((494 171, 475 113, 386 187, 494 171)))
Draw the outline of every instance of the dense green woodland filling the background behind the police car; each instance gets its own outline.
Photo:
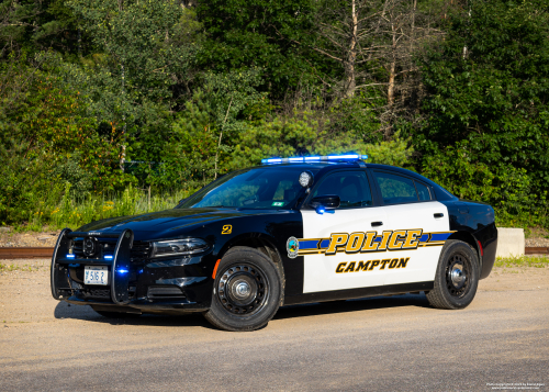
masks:
POLYGON ((327 2, 0 1, 0 223, 75 227, 265 157, 354 152, 549 227, 547 3, 415 3, 392 2, 405 52, 360 26, 372 55, 332 51, 350 19, 327 2))

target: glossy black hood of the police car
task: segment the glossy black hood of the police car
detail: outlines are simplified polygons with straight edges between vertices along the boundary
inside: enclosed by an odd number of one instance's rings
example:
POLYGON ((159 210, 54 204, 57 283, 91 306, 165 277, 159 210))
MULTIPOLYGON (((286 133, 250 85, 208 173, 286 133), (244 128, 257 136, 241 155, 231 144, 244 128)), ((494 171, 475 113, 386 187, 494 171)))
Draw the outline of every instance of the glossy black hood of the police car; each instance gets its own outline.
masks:
MULTIPOLYGON (((261 215, 276 211, 235 209, 172 209, 148 214, 111 217, 81 226, 77 232, 122 233, 130 228, 142 237, 146 233, 155 233, 154 237, 170 237, 188 232, 206 223, 234 219, 238 216, 261 215)), ((147 236, 149 237, 149 236, 147 236)))

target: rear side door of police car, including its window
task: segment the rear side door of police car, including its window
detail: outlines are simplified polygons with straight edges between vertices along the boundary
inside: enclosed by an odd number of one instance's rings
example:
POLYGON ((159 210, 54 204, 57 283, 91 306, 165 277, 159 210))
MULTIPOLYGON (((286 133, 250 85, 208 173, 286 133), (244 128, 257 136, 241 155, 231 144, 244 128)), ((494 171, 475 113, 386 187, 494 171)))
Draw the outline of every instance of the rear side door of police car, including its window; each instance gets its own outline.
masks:
POLYGON ((384 284, 433 281, 438 258, 451 235, 448 209, 417 179, 389 170, 373 170, 392 231, 384 259, 390 259, 384 284))

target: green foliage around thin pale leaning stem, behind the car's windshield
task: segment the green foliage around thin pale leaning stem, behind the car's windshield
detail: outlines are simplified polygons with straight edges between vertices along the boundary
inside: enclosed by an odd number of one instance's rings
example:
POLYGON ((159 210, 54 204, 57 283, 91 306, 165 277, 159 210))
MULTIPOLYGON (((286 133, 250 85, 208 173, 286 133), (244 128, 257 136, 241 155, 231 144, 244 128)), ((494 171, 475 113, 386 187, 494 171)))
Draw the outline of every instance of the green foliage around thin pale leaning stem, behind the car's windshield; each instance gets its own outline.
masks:
POLYGON ((231 154, 247 131, 247 122, 268 104, 266 94, 256 90, 259 74, 249 69, 205 75, 204 86, 195 90, 173 123, 161 181, 188 179, 204 184, 228 170, 231 154))

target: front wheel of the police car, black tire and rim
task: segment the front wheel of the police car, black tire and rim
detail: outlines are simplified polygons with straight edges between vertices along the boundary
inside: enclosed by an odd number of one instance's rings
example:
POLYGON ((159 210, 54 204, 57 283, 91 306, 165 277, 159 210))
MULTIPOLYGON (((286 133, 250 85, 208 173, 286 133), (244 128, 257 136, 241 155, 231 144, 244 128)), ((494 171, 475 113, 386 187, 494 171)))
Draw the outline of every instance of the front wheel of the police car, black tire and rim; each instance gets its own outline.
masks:
POLYGON ((220 329, 259 329, 274 316, 281 296, 282 279, 272 260, 257 249, 237 246, 220 261, 204 317, 220 329))

